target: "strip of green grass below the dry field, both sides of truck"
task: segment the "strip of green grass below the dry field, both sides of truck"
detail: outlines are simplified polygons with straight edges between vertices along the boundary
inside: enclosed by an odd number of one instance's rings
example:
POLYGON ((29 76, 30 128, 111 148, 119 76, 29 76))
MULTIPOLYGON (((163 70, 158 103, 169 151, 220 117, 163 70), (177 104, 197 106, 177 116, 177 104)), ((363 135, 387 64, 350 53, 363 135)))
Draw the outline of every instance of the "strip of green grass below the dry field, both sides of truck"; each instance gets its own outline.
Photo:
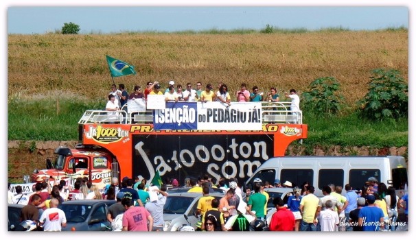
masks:
MULTIPOLYGON (((9 140, 72 141, 78 139, 78 121, 87 109, 102 109, 105 102, 64 99, 40 99, 9 103, 9 140)), ((357 112, 342 116, 321 117, 305 113, 303 122, 308 124, 305 146, 407 146, 407 119, 384 121, 362 120, 357 112), (388 133, 388 134, 386 134, 388 133)))

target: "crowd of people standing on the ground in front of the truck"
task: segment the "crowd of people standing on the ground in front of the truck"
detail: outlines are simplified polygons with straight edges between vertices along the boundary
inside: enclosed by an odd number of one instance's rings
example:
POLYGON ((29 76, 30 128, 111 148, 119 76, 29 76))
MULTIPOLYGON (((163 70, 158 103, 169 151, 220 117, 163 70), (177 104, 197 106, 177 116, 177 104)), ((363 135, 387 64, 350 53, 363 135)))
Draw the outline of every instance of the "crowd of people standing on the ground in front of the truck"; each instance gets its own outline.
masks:
MULTIPOLYGON (((167 189, 180 187, 178 180, 165 179, 160 189, 152 189, 146 179, 112 178, 111 184, 100 193, 88 178, 78 178, 73 189, 67 189, 65 180, 56 181, 51 187, 47 181, 34 184, 33 193, 23 194, 21 186, 16 186, 16 195, 9 191, 10 204, 25 205, 21 211, 21 221, 32 220, 39 229, 60 231, 66 226, 65 213, 58 205, 71 200, 116 200, 108 208, 107 220, 117 231, 163 231, 163 206, 167 199, 167 189), (149 189, 157 194, 150 201, 149 189), (11 194, 10 194, 11 193, 11 194), (54 219, 47 217, 51 213, 54 219), (138 217, 139 216, 139 217, 138 217)), ((408 195, 402 198, 394 187, 386 187, 376 178, 369 178, 362 189, 352 189, 328 184, 321 187, 323 197, 314 195, 314 187, 304 182, 300 188, 292 188, 289 181, 274 185, 256 178, 253 189, 245 189, 235 178, 210 178, 208 174, 194 180, 186 178, 183 187, 188 192, 202 193, 195 211, 200 219, 196 230, 203 231, 375 231, 391 230, 407 223, 408 195), (292 188, 287 202, 281 197, 270 199, 265 189, 269 187, 292 188), (213 189, 222 189, 224 197, 213 197, 213 189), (244 197, 243 197, 244 196, 244 197), (269 201, 276 212, 267 219, 269 201), (403 208, 406 219, 397 221, 398 208, 403 208), (270 221, 270 222, 267 222, 270 221)), ((284 196, 282 196, 284 197, 284 196)))

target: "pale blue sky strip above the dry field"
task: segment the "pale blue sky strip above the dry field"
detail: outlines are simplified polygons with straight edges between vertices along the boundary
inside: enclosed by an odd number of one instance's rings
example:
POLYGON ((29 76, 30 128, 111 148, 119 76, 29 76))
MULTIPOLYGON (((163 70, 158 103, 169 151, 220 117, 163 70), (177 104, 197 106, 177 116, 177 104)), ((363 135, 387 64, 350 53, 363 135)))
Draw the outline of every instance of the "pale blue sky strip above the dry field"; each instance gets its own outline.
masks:
POLYGON ((373 30, 408 27, 406 6, 10 6, 8 34, 45 34, 76 23, 80 34, 175 32, 207 29, 343 27, 373 30))

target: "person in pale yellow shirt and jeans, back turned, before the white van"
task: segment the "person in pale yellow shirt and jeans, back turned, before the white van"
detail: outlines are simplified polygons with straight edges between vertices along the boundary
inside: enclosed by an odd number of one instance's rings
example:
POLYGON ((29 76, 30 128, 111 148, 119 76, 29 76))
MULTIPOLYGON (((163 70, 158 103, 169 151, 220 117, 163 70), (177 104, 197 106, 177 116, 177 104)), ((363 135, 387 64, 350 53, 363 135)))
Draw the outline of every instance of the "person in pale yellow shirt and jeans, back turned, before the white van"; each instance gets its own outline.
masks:
POLYGON ((317 231, 319 212, 321 212, 321 206, 319 206, 319 198, 314 195, 315 188, 312 185, 308 185, 305 190, 306 195, 302 197, 299 210, 301 211, 301 231, 317 231))

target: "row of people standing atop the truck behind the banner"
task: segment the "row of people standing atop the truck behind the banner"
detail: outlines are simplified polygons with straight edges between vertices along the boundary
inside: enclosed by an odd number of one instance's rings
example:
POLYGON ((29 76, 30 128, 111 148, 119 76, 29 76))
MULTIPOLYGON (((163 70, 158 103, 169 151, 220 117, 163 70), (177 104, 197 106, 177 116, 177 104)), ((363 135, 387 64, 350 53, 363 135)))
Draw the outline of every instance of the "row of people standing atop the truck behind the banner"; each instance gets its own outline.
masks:
MULTIPOLYGON (((268 93, 265 94, 264 92, 259 91, 257 86, 253 86, 252 92, 250 93, 249 90, 247 90, 246 84, 242 83, 238 91, 233 95, 233 100, 231 100, 229 88, 227 84, 223 84, 222 82, 218 83, 217 89, 214 89, 212 84, 207 84, 205 89, 203 89, 203 84, 201 82, 196 82, 196 88, 193 88, 192 84, 188 82, 185 84, 185 89, 183 89, 181 84, 175 86, 175 82, 170 80, 165 91, 161 91, 161 84, 159 84, 159 82, 147 82, 144 91, 141 86, 135 86, 134 92, 130 95, 126 91, 124 84, 119 84, 118 89, 117 86, 113 84, 111 86, 111 91, 108 94, 106 110, 120 110, 127 103, 128 99, 144 99, 146 101, 148 95, 164 95, 165 101, 220 101, 228 106, 231 105, 231 101, 280 101, 277 89, 274 87, 270 88, 268 93)), ((285 97, 292 102, 292 110, 300 109, 300 100, 296 90, 290 89, 289 93, 285 93, 285 97)))

